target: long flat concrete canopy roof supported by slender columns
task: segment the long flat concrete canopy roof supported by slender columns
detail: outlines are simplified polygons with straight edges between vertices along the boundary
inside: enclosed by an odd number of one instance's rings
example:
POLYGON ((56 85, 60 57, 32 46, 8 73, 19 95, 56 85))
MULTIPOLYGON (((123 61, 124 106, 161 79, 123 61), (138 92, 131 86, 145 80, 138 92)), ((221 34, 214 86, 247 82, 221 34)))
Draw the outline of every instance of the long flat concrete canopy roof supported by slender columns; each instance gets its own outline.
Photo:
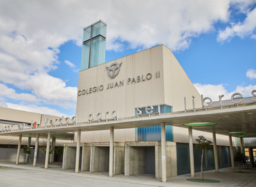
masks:
POLYGON ((1 132, 1 136, 19 136, 19 134, 29 134, 35 136, 39 134, 40 137, 47 137, 46 132, 53 132, 54 136, 66 136, 73 138, 70 132, 77 132, 80 129, 82 132, 95 130, 109 130, 110 127, 115 129, 126 129, 134 127, 151 127, 159 126, 162 122, 166 125, 173 125, 176 127, 188 128, 183 125, 185 123, 217 123, 212 126, 192 127, 193 130, 203 132, 215 132, 216 134, 232 135, 239 137, 256 137, 256 103, 247 103, 242 105, 229 105, 221 107, 212 107, 205 110, 205 108, 187 110, 181 112, 171 112, 161 114, 154 114, 151 116, 139 116, 137 118, 119 118, 118 121, 93 121, 92 123, 84 122, 77 123, 77 125, 62 125, 62 127, 40 127, 31 130, 20 130, 12 132, 1 132), (69 132, 69 133, 68 133, 69 132), (230 134, 229 132, 247 132, 244 134, 230 134))

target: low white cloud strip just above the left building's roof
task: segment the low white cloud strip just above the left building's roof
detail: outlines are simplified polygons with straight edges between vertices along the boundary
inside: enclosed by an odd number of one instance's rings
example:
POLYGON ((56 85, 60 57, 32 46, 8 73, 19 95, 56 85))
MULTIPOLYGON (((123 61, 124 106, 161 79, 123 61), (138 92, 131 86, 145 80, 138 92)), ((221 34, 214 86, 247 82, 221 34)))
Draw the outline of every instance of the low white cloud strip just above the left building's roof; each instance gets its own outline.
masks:
POLYGON ((48 114, 51 116, 68 116, 66 114, 62 114, 61 112, 57 111, 57 109, 51 109, 48 107, 38 107, 37 105, 17 105, 13 103, 6 103, 8 108, 10 109, 19 109, 24 110, 27 112, 35 112, 39 114, 48 114))

